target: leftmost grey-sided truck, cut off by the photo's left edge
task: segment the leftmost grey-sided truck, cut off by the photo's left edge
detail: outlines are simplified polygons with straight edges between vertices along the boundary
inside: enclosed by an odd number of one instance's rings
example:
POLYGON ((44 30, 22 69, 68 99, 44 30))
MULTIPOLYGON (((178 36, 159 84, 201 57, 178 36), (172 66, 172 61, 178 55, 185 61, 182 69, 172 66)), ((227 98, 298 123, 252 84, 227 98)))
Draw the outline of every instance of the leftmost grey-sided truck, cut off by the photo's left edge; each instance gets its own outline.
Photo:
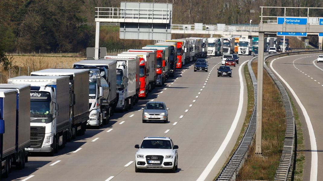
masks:
POLYGON ((25 167, 30 146, 30 85, 0 85, 0 179, 25 167))

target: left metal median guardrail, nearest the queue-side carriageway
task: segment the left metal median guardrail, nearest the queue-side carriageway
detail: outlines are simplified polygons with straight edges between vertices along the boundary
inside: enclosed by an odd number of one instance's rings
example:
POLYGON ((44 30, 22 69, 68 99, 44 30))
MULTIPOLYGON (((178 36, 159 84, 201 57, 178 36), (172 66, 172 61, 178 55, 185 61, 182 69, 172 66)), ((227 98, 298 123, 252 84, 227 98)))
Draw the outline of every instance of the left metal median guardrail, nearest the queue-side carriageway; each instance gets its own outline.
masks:
POLYGON ((252 80, 252 84, 254 86, 254 110, 252 111, 247 129, 242 137, 242 140, 234 151, 233 155, 229 159, 228 163, 222 169, 220 175, 216 178, 216 180, 228 180, 233 181, 236 179, 242 165, 245 163, 245 159, 249 155, 249 146, 252 144, 254 140, 254 135, 256 131, 256 118, 257 118, 257 79, 255 74, 251 68, 251 62, 256 59, 252 58, 248 61, 248 70, 252 80))

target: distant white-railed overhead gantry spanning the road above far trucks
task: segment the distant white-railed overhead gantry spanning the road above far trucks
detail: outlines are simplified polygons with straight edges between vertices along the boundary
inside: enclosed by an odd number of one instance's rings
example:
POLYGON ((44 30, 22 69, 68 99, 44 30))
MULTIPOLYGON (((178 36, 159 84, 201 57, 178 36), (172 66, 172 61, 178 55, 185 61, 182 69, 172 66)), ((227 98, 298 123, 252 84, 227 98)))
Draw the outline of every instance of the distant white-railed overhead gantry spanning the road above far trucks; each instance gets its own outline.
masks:
POLYGON ((225 32, 258 32, 258 25, 221 25, 216 24, 172 24, 174 31, 225 31, 225 32))

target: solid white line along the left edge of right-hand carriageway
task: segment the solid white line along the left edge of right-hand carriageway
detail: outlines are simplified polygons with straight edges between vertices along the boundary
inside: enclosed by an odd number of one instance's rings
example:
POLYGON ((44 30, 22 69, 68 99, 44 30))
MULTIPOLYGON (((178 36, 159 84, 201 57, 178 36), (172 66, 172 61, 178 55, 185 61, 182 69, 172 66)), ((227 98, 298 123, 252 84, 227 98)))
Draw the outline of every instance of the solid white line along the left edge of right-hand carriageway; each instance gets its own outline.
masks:
MULTIPOLYGON (((280 58, 277 58, 280 59, 280 58)), ((273 61, 270 62, 270 68, 273 70, 273 72, 275 72, 275 74, 284 82, 284 84, 287 86, 287 88, 289 89, 289 91, 292 93, 292 95, 294 96, 297 104, 299 105, 299 107, 301 108, 303 115, 305 117, 305 121, 307 124, 307 129, 308 129, 308 134, 309 134, 309 140, 311 142, 311 174, 310 174, 310 181, 316 181, 317 177, 318 177, 318 152, 317 152, 317 145, 316 145, 316 140, 315 140, 315 134, 314 134, 314 130, 313 130, 313 126, 311 123, 311 120, 309 119, 309 116, 307 114, 307 111, 304 107, 304 105, 301 103, 301 101, 299 100, 298 96, 296 95, 296 93, 294 92, 294 90, 289 86, 289 84, 285 81, 285 79, 283 79, 283 77, 281 77, 276 70, 273 68, 273 62, 276 59, 274 59, 273 61)))

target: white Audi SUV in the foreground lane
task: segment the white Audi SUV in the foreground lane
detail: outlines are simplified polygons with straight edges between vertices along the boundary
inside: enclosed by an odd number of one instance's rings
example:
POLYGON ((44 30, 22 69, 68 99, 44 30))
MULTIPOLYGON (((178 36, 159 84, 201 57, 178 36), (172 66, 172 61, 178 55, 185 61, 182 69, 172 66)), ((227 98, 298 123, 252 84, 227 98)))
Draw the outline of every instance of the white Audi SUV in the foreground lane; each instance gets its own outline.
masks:
POLYGON ((168 169, 175 173, 178 167, 177 149, 168 137, 145 137, 141 145, 135 145, 135 172, 141 169, 168 169))

